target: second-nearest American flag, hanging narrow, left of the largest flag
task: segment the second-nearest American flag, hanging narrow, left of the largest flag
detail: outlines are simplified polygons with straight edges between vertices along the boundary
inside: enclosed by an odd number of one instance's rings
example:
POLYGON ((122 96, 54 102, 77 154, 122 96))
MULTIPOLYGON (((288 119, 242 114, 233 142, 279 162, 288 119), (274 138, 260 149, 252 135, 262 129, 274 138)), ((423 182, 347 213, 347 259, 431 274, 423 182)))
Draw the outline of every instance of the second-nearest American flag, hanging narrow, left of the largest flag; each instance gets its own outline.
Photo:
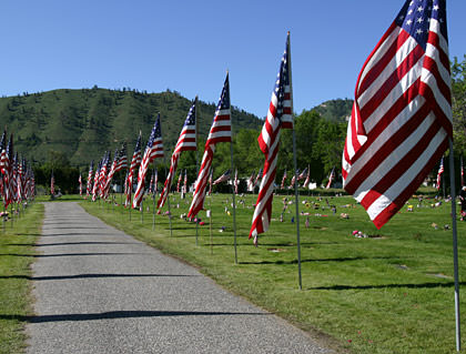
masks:
POLYGON ((254 244, 257 244, 257 235, 269 230, 272 218, 273 186, 276 174, 281 128, 293 129, 292 89, 290 78, 291 62, 288 32, 286 36, 285 52, 283 53, 275 88, 272 92, 267 118, 265 119, 262 132, 257 139, 259 145, 265 155, 265 163, 250 231, 250 239, 254 236, 254 244))

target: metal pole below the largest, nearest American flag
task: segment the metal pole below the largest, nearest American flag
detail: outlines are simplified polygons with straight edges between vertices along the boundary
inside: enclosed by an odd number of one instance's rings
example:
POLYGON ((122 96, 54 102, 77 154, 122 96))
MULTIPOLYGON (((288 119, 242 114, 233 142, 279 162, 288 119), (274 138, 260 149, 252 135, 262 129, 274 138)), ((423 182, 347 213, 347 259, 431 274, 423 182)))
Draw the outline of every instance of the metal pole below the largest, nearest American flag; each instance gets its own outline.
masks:
POLYGON ((449 181, 452 189, 453 267, 455 273, 456 351, 459 352, 462 350, 462 334, 459 323, 458 239, 456 230, 456 185, 452 138, 449 139, 449 181))

